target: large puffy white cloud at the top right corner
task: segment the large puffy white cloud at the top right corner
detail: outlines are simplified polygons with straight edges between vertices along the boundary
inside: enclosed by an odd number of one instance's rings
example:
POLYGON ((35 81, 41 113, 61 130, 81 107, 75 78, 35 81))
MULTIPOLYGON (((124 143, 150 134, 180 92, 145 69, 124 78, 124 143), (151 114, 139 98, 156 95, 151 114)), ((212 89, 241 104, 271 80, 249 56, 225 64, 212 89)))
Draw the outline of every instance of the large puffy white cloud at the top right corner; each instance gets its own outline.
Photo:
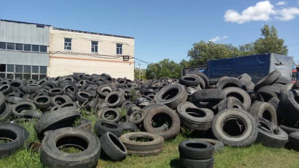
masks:
MULTIPOLYGON (((285 5, 286 1, 279 1, 276 5, 285 5)), ((287 7, 276 9, 269 0, 260 1, 255 6, 249 6, 239 13, 236 10, 229 9, 224 14, 224 20, 227 22, 237 22, 239 24, 249 21, 269 21, 278 19, 282 21, 292 20, 299 15, 298 7, 287 7)))

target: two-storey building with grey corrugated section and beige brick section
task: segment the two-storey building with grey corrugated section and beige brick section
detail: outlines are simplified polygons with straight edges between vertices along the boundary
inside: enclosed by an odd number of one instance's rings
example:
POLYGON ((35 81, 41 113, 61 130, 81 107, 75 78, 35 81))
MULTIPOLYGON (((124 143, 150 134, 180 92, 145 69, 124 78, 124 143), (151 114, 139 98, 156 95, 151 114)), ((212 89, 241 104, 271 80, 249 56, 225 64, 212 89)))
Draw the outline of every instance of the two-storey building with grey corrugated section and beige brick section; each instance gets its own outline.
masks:
POLYGON ((0 77, 107 73, 134 79, 134 37, 0 20, 0 77))

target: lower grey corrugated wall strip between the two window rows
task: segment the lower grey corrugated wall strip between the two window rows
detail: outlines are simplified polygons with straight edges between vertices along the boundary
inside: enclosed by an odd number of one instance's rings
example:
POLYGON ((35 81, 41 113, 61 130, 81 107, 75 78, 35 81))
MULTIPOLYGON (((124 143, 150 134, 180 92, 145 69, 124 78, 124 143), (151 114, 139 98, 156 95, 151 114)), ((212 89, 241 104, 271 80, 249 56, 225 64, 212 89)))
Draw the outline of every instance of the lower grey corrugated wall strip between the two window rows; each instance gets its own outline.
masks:
POLYGON ((49 53, 0 50, 0 63, 49 66, 49 53))

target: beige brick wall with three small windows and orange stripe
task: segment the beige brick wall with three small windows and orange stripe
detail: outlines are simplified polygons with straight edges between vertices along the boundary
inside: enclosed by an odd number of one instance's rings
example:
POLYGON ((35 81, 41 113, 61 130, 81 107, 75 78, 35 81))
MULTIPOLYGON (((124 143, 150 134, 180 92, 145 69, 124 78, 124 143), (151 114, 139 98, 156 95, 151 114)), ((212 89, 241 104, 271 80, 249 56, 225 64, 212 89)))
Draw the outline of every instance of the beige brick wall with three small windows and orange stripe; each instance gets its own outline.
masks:
POLYGON ((50 29, 48 76, 63 76, 73 72, 107 73, 114 78, 127 77, 133 80, 134 59, 123 61, 122 56, 117 58, 117 43, 123 44, 123 55, 134 57, 134 39, 50 29), (72 38, 71 51, 64 50, 64 38, 72 38), (91 52, 91 41, 99 41, 98 53, 91 52))

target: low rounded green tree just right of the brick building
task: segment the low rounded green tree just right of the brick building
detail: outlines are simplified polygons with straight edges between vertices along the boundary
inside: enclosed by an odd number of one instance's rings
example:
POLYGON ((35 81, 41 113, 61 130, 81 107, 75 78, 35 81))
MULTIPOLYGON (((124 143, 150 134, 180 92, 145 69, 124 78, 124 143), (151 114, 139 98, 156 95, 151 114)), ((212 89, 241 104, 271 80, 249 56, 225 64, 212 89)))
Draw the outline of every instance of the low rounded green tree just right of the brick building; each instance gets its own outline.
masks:
POLYGON ((157 63, 149 64, 146 70, 147 79, 159 79, 161 77, 179 78, 181 67, 176 62, 163 59, 157 63))

